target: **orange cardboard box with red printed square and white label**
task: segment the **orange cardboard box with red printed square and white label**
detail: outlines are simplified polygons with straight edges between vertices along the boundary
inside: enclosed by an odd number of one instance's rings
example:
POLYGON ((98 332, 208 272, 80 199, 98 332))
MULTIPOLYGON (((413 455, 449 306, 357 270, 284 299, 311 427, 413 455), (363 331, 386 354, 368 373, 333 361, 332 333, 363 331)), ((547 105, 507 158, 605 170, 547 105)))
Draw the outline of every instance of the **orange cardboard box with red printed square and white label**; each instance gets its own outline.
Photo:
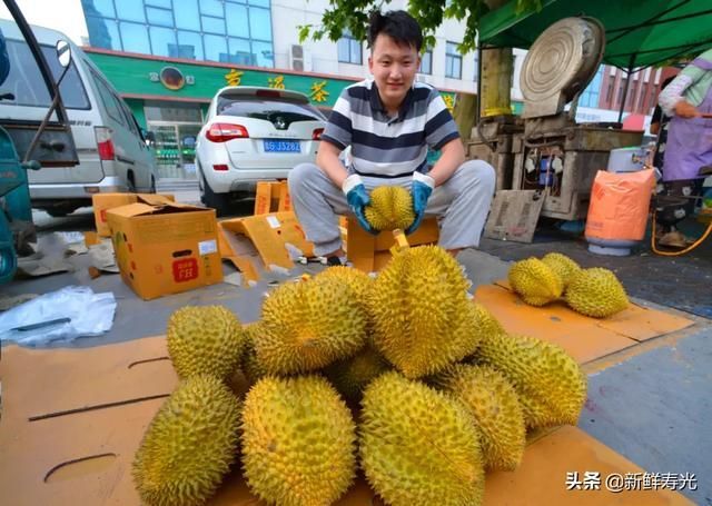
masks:
POLYGON ((222 281, 215 209, 135 202, 107 219, 121 278, 141 298, 222 281))

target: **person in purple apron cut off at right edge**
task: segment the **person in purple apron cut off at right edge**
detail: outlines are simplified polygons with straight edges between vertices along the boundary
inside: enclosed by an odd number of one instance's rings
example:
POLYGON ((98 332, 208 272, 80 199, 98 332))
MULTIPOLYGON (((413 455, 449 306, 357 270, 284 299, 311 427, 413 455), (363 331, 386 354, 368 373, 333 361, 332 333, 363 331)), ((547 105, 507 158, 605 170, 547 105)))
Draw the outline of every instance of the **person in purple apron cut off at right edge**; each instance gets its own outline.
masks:
POLYGON ((676 225, 694 212, 704 176, 712 168, 712 49, 703 52, 660 93, 671 117, 663 160, 663 191, 656 206, 661 246, 684 248, 676 225))

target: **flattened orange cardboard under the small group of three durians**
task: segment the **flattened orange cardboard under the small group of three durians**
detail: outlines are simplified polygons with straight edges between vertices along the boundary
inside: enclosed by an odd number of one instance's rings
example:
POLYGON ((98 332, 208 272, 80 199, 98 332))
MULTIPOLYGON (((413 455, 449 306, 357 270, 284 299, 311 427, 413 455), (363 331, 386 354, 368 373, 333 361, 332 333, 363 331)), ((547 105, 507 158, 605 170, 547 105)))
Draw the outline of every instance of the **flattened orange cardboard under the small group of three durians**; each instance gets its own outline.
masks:
POLYGON ((581 364, 694 324, 635 304, 604 319, 580 315, 564 302, 533 307, 511 291, 506 281, 478 287, 475 300, 485 306, 507 331, 557 344, 581 364))

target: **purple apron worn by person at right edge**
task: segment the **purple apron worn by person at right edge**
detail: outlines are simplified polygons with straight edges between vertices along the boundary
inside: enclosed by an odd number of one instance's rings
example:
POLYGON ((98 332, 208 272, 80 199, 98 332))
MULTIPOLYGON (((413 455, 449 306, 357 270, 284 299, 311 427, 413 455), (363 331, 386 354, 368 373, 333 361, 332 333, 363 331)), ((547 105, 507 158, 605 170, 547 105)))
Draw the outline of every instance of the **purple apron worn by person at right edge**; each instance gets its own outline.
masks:
MULTIPOLYGON (((712 72, 712 61, 698 58, 693 65, 712 72)), ((712 113, 712 87, 698 106, 701 113, 712 113)), ((663 181, 696 179, 700 169, 712 165, 712 119, 673 116, 668 126, 663 181)))

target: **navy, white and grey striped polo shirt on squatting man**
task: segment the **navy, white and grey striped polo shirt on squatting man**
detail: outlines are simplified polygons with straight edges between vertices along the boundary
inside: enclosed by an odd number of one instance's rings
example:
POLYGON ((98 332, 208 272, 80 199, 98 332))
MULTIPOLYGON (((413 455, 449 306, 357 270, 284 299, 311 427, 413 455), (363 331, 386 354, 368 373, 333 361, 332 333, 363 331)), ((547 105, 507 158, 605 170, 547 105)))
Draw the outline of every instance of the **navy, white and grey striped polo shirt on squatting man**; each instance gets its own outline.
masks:
POLYGON ((438 150, 458 137, 457 125, 432 86, 415 82, 398 115, 388 117, 376 83, 368 79, 342 91, 322 140, 342 150, 352 147, 349 172, 398 179, 426 172, 428 147, 438 150))

